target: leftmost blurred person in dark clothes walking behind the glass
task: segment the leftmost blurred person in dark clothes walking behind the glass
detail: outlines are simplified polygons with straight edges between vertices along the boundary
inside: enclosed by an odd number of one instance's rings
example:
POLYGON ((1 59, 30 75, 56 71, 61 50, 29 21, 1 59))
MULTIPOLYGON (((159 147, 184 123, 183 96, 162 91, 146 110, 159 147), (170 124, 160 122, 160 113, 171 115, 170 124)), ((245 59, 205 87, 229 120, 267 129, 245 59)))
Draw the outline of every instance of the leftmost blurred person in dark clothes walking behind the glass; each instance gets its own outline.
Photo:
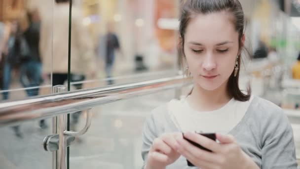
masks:
MULTIPOLYGON (((8 90, 11 83, 11 73, 13 69, 18 69, 24 58, 29 55, 28 44, 23 37, 20 24, 13 21, 10 26, 10 36, 7 42, 7 55, 4 57, 2 89, 8 90)), ((3 92, 3 100, 8 99, 8 91, 3 92)), ((20 127, 12 127, 17 137, 22 137, 20 127)))

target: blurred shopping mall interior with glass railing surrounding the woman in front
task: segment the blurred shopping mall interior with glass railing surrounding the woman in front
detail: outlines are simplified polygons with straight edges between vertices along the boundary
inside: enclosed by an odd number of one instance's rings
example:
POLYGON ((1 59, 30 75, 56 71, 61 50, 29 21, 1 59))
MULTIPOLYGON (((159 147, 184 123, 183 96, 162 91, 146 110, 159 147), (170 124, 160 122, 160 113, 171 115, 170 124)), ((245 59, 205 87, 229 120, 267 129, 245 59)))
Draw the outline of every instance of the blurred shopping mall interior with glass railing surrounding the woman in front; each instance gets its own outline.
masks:
MULTIPOLYGON (((182 1, 0 0, 0 169, 141 169, 147 117, 193 85, 182 1)), ((300 0, 239 1, 239 86, 281 107, 300 164, 300 0)))

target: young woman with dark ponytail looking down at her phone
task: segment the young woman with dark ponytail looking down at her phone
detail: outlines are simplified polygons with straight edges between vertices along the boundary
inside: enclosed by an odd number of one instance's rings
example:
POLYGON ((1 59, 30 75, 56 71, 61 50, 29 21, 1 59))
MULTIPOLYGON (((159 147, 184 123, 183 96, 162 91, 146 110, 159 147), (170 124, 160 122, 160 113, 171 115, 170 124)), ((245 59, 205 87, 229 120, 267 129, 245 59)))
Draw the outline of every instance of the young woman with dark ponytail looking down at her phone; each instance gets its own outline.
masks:
POLYGON ((147 119, 144 168, 189 169, 188 160, 200 169, 297 169, 282 109, 238 86, 245 42, 240 2, 183 0, 181 10, 181 49, 194 86, 147 119), (216 132, 218 142, 194 131, 216 132))

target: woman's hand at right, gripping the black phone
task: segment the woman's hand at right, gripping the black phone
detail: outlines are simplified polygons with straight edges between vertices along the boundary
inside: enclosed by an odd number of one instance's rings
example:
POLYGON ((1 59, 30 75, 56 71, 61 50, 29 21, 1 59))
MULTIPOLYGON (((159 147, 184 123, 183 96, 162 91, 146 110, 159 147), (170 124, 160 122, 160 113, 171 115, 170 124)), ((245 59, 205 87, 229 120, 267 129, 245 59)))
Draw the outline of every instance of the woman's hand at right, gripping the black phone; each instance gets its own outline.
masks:
POLYGON ((216 134, 220 143, 197 133, 187 132, 185 137, 211 150, 201 150, 183 136, 176 138, 178 152, 193 165, 201 169, 259 169, 253 160, 246 155, 232 135, 216 134))

